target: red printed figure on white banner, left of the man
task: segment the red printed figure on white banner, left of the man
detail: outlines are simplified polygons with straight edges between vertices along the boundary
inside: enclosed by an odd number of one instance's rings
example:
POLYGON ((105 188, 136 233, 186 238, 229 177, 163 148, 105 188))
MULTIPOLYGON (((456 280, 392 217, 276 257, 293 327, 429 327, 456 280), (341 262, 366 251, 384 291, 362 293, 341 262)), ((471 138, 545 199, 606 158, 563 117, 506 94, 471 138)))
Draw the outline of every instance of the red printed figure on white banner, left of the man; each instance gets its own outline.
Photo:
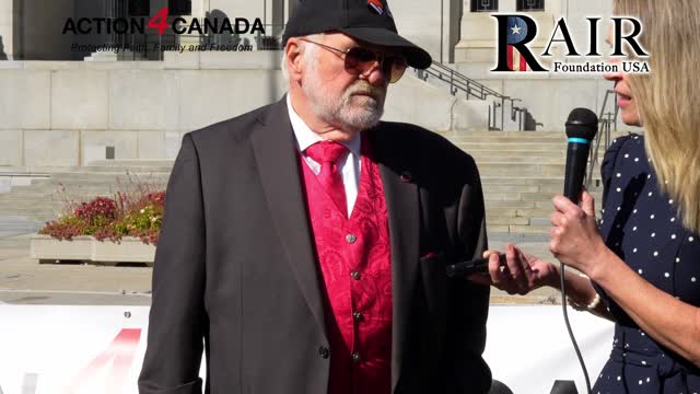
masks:
POLYGON ((66 394, 72 394, 82 389, 90 379, 95 378, 103 368, 109 368, 107 371, 107 380, 104 382, 103 393, 120 394, 126 383, 136 349, 141 339, 141 328, 124 328, 112 340, 112 344, 97 355, 90 363, 80 371, 78 378, 65 391, 66 394))

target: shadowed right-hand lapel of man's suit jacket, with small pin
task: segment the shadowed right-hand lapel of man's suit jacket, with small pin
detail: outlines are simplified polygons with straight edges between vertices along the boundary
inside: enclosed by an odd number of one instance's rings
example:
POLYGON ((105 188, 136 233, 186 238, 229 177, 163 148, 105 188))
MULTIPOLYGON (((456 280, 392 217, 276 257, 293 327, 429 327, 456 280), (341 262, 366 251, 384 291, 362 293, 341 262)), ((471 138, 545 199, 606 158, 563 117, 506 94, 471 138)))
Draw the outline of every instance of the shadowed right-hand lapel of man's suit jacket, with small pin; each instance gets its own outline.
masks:
POLYGON ((390 141, 381 130, 368 131, 376 153, 389 217, 392 242, 393 339, 392 392, 401 372, 404 351, 409 338, 409 318, 418 279, 420 211, 418 186, 401 158, 390 149, 390 141))

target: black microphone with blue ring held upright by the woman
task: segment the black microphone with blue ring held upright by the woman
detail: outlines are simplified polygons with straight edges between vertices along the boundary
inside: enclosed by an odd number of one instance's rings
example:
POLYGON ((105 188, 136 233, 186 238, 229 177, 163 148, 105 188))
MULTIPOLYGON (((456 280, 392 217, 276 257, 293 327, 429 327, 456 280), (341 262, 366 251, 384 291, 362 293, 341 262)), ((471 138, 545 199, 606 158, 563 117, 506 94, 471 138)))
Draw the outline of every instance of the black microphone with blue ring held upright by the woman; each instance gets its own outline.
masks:
POLYGON ((575 108, 567 119, 567 166, 564 172, 564 196, 579 204, 583 177, 586 172, 591 142, 598 131, 598 117, 587 108, 575 108))

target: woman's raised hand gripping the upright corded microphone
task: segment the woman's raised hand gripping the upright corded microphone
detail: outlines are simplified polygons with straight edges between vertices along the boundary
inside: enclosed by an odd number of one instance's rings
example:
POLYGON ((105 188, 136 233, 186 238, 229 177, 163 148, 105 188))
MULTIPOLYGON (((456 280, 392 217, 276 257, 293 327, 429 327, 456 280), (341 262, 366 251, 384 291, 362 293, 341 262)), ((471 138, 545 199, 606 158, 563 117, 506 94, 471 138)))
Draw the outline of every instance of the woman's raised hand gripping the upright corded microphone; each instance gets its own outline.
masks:
POLYGON ((552 204, 557 211, 550 216, 549 251, 561 263, 594 279, 596 268, 600 268, 596 262, 603 260, 608 248, 595 222, 593 196, 584 190, 581 208, 561 195, 555 196, 552 204))

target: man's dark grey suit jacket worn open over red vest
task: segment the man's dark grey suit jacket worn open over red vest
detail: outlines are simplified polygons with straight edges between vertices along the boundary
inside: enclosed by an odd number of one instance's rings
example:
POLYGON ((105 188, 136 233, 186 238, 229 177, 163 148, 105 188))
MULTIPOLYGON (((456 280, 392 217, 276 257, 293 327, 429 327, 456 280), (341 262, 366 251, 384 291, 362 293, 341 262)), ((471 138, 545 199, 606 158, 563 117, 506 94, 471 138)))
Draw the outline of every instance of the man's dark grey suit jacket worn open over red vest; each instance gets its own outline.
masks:
MULTIPOLYGON (((487 247, 474 160, 417 126, 364 132, 389 217, 393 392, 487 393, 489 288, 445 276, 487 247)), ((206 393, 326 394, 320 294, 284 100, 187 134, 167 185, 140 393, 201 393, 203 350, 206 393)))

